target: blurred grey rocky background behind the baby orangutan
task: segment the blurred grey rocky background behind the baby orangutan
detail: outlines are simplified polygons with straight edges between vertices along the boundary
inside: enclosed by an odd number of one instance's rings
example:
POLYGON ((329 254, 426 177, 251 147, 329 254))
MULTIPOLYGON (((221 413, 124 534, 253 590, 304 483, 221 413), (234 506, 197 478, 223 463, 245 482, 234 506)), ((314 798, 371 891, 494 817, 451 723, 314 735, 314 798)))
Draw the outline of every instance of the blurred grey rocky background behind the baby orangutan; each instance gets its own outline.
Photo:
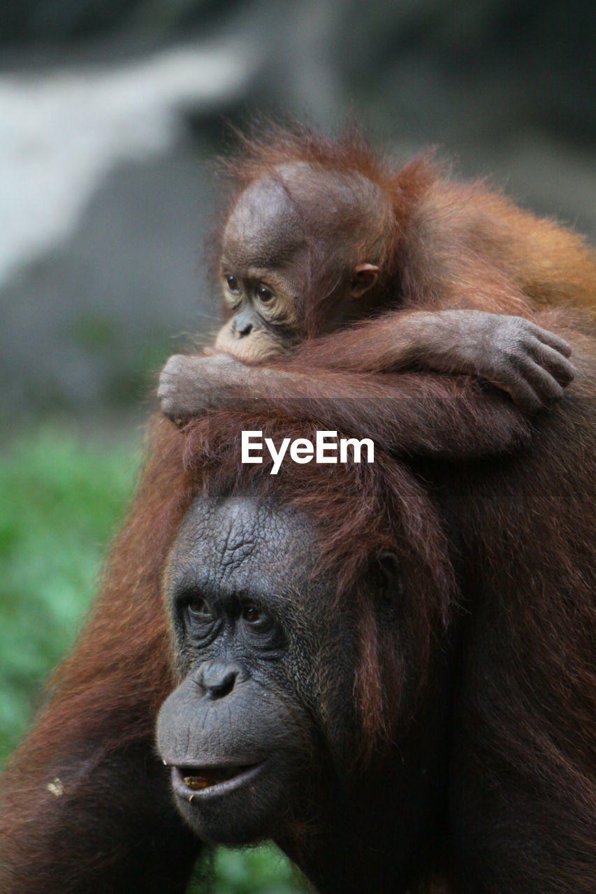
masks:
POLYGON ((595 38, 591 0, 3 0, 4 431, 128 418, 217 325, 226 121, 355 116, 593 239, 595 38))

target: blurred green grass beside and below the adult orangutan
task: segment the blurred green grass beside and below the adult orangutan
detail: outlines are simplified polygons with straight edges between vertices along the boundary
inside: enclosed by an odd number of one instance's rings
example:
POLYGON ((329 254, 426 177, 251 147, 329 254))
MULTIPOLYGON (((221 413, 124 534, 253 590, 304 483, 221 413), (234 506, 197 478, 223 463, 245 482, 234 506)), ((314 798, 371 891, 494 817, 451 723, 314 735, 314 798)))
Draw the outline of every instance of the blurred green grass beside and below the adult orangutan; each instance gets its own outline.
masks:
MULTIPOLYGON (((140 438, 100 445, 63 427, 21 434, 0 453, 0 765, 22 737, 48 672, 91 602, 132 495, 140 438)), ((206 867, 200 867, 200 875, 206 867)), ((220 848, 193 894, 304 890, 275 848, 220 848)))

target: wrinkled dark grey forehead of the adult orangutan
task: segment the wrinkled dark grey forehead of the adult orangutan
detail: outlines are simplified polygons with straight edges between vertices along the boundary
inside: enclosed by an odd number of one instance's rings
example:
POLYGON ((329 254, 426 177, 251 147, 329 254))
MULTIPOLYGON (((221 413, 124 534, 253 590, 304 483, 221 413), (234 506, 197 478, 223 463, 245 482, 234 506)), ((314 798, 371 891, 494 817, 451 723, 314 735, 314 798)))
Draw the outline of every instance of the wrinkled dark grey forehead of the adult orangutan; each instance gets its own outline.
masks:
POLYGON ((308 578, 316 561, 313 547, 311 525, 302 513, 251 497, 200 497, 176 538, 172 583, 196 578, 198 586, 284 590, 297 578, 308 578))

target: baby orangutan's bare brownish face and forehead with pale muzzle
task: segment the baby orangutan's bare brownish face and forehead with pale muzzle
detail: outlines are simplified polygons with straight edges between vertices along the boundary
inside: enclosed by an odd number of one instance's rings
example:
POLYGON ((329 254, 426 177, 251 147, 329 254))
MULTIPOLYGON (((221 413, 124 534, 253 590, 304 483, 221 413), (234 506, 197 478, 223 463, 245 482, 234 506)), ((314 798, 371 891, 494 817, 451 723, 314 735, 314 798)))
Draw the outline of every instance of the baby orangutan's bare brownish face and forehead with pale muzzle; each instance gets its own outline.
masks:
MULTIPOLYGON (((215 347, 244 363, 262 363, 305 336, 304 295, 321 280, 333 296, 325 319, 331 331, 362 317, 362 295, 379 266, 358 260, 354 244, 353 184, 294 162, 256 181, 241 194, 226 223, 220 273, 231 317, 215 347), (333 309, 335 308, 335 309, 333 309)), ((366 251, 366 247, 362 247, 366 251)), ((325 290, 323 290, 325 292, 325 290)))

